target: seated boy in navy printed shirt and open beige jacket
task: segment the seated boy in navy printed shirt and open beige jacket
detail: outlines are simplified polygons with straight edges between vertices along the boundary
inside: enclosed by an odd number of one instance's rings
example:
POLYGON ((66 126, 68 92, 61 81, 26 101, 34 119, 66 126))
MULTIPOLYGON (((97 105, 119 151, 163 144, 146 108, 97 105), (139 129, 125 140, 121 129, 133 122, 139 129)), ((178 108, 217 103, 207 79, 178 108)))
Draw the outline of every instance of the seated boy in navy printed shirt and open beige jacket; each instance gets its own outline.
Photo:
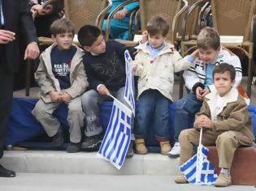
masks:
POLYGON ((63 144, 63 130, 52 113, 60 104, 67 104, 70 132, 67 152, 74 153, 80 151, 80 129, 85 118, 80 95, 89 85, 82 62, 84 53, 76 45, 72 45, 75 29, 69 20, 54 21, 50 32, 54 44, 41 53, 35 74, 41 87, 41 97, 32 114, 52 138, 54 146, 58 147, 63 144))

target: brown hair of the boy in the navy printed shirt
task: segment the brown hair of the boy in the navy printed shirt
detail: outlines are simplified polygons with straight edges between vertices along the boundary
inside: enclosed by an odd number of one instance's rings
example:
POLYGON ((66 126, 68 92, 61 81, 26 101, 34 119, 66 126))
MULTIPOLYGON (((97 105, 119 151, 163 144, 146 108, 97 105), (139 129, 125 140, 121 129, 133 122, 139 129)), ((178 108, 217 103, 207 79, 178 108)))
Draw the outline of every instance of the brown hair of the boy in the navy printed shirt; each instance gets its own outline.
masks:
POLYGON ((69 19, 57 19, 50 25, 50 33, 54 36, 66 32, 72 32, 73 36, 75 35, 75 27, 69 19))

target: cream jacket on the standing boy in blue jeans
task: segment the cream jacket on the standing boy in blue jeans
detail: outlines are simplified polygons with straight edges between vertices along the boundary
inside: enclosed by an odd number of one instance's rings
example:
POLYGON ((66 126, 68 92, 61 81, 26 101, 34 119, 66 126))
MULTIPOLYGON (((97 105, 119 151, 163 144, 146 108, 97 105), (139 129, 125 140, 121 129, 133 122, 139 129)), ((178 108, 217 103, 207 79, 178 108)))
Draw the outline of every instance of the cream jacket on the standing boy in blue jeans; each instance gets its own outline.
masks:
POLYGON ((138 97, 145 90, 155 89, 172 101, 174 73, 189 69, 192 63, 186 57, 182 58, 174 45, 167 42, 155 59, 150 56, 146 43, 138 45, 136 49, 138 53, 133 65, 137 66, 134 74, 139 76, 138 97))

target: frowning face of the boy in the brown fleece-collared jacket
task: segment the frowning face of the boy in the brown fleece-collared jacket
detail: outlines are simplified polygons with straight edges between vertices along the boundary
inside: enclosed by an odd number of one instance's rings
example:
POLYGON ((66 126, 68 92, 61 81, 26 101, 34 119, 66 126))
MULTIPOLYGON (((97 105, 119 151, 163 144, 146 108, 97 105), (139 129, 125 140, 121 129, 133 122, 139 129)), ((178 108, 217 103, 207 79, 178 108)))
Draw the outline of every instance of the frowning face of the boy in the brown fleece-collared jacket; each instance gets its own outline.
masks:
POLYGON ((230 78, 230 71, 225 71, 224 73, 215 73, 214 82, 219 96, 225 96, 233 87, 235 80, 230 78))

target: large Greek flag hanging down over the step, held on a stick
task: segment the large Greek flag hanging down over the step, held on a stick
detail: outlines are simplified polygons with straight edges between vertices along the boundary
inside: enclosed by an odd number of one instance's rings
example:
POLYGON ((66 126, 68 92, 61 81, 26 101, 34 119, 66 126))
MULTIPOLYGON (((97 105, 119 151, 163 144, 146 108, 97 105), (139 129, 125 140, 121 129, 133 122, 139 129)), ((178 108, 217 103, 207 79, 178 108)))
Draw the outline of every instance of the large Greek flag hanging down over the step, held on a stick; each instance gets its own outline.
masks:
POLYGON ((124 163, 131 141, 131 117, 132 111, 119 100, 114 99, 111 119, 98 151, 98 156, 109 160, 118 169, 124 163))

